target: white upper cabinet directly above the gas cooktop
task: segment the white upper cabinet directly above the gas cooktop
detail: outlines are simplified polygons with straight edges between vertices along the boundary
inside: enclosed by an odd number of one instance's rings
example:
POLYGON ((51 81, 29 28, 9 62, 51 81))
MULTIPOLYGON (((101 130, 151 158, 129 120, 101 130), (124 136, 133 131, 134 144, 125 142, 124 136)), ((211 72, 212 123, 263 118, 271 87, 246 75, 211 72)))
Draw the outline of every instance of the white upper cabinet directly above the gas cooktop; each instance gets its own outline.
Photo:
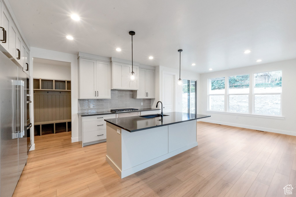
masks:
POLYGON ((133 71, 138 76, 138 79, 135 82, 129 81, 129 74, 131 73, 131 71, 132 71, 131 64, 112 61, 112 71, 111 71, 112 89, 138 90, 139 89, 139 80, 138 80, 139 66, 133 66, 133 71))

